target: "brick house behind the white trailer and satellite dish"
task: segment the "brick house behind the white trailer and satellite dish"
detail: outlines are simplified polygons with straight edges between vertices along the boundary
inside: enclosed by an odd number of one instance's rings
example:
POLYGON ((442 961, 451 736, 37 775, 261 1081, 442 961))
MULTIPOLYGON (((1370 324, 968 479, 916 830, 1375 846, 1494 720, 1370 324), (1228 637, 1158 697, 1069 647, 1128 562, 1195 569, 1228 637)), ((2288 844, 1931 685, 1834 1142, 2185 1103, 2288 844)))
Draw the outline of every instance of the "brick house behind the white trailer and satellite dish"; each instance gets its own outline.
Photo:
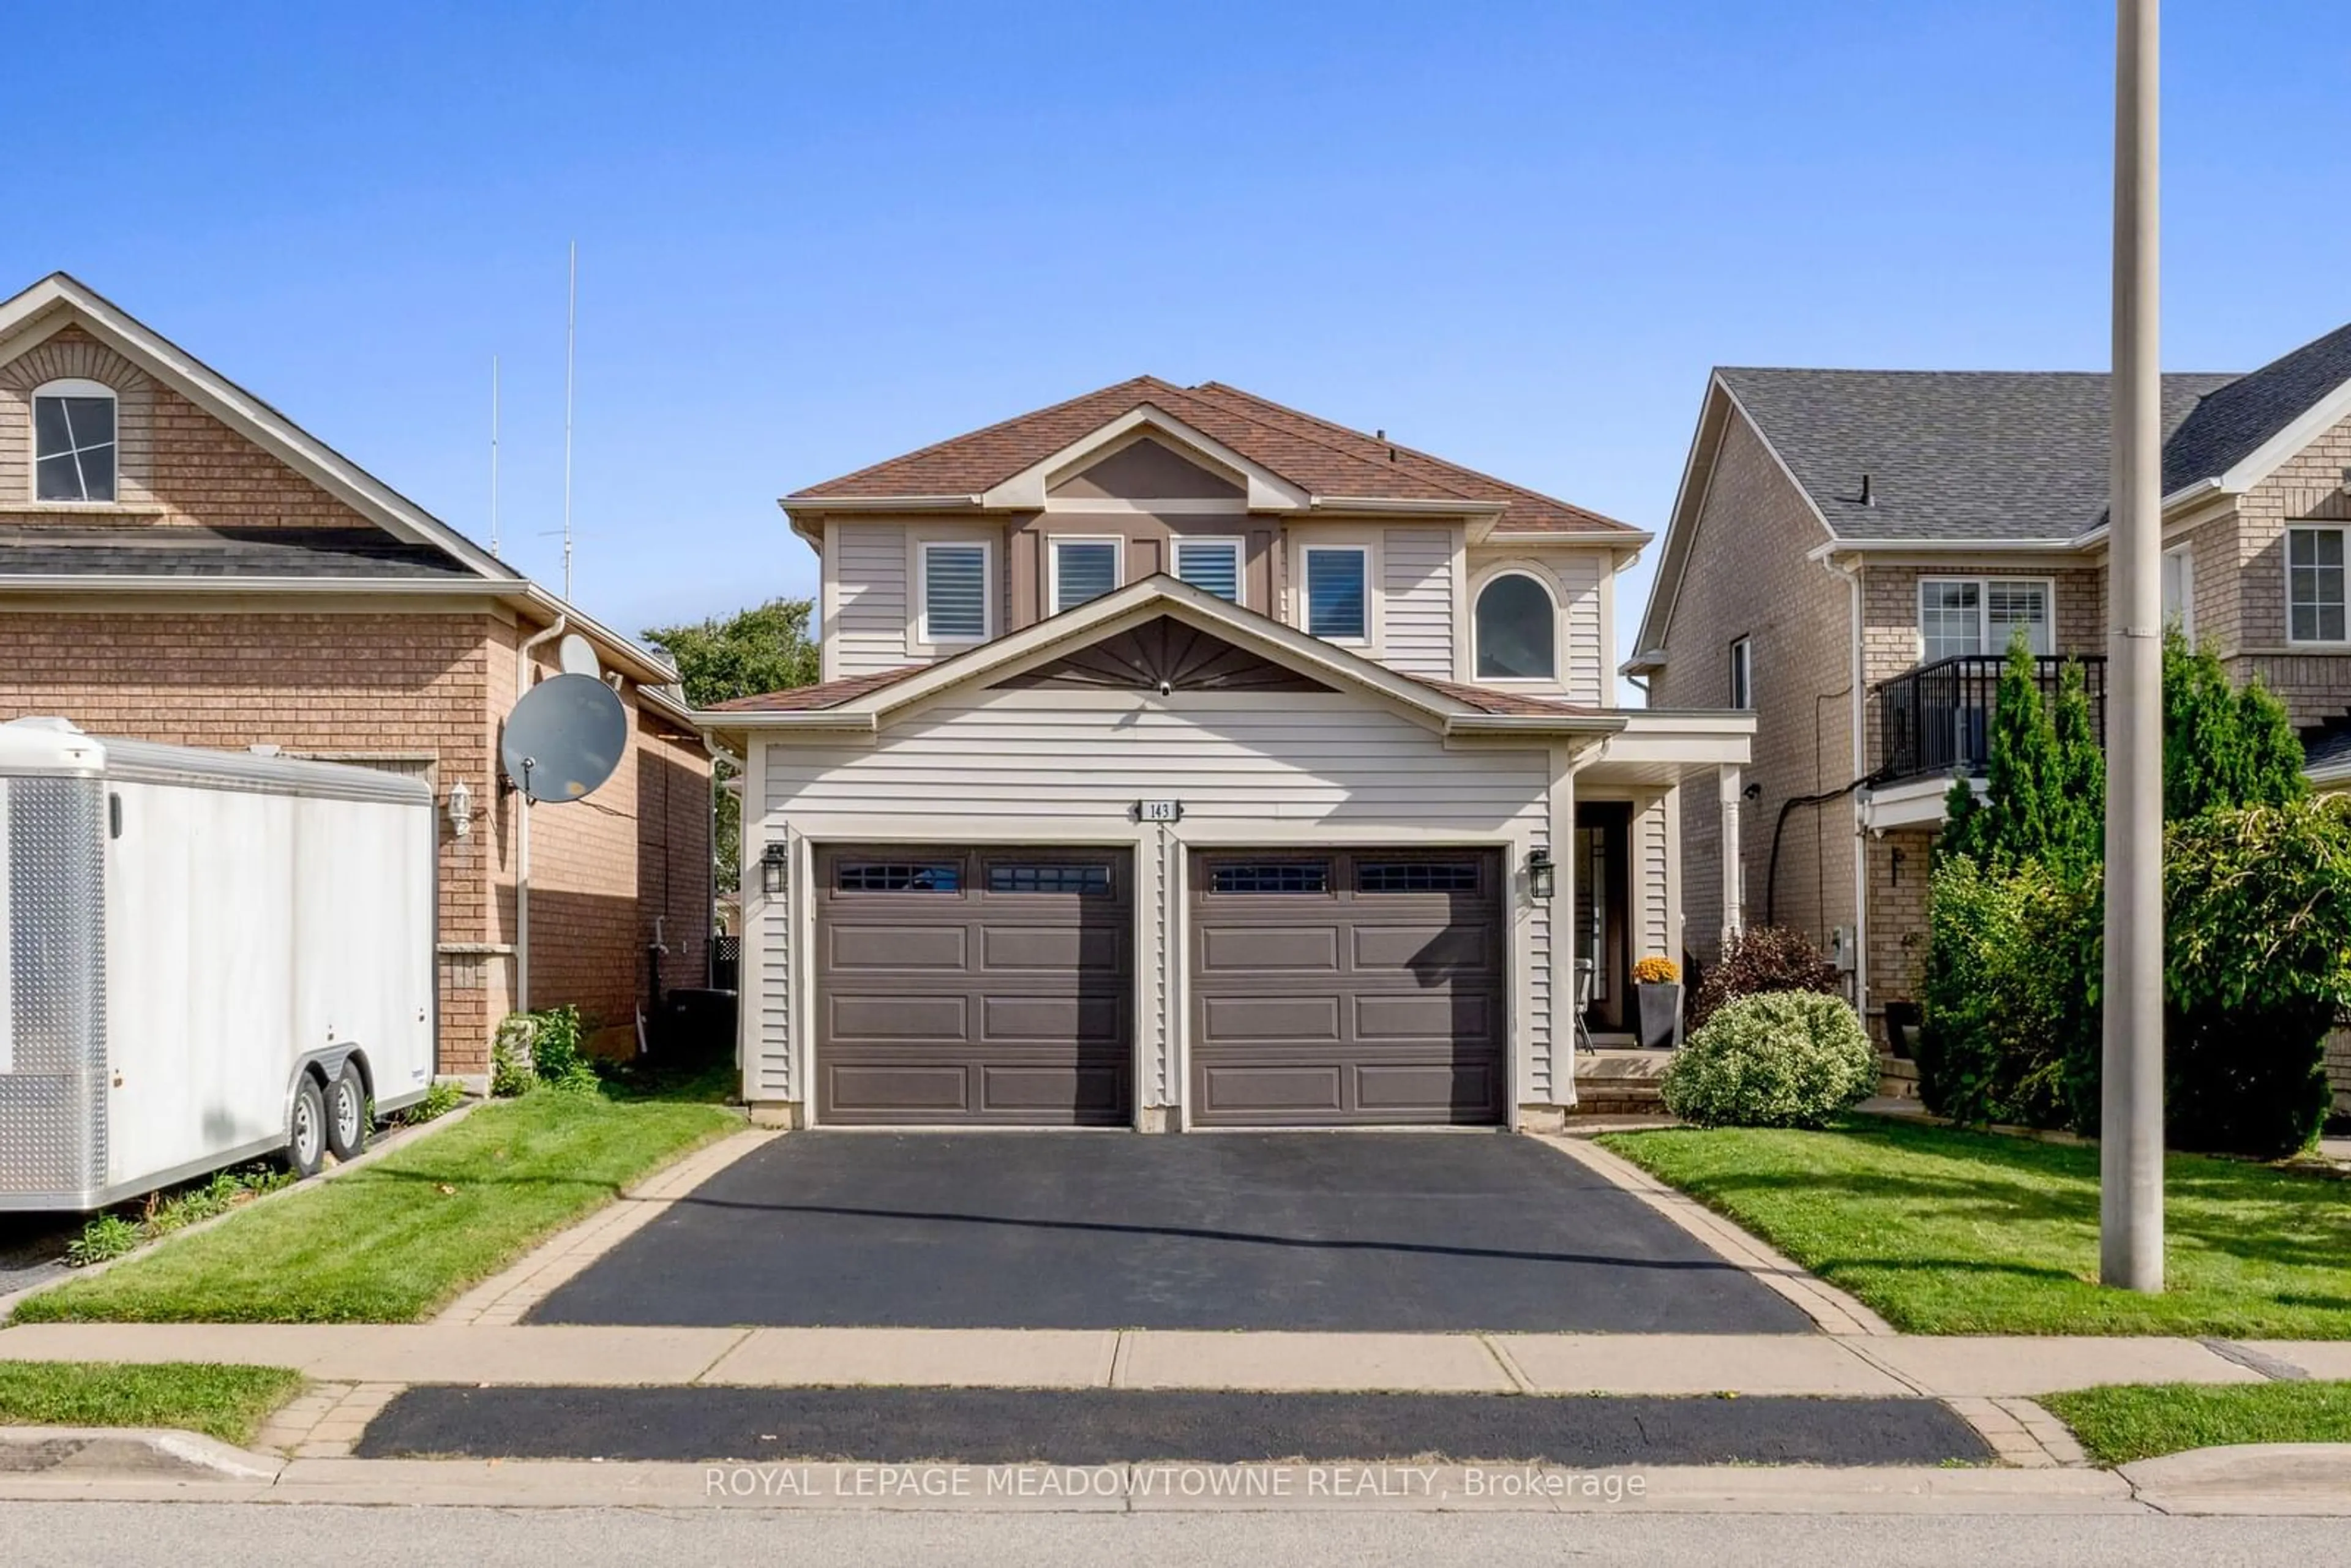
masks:
POLYGON ((557 628, 630 736, 592 797, 531 809, 531 1001, 630 1023, 656 931, 670 983, 701 983, 710 940, 710 759, 677 670, 73 277, 0 303, 0 719, 423 773, 447 1074, 487 1072, 513 1001, 498 724, 557 670, 557 628))

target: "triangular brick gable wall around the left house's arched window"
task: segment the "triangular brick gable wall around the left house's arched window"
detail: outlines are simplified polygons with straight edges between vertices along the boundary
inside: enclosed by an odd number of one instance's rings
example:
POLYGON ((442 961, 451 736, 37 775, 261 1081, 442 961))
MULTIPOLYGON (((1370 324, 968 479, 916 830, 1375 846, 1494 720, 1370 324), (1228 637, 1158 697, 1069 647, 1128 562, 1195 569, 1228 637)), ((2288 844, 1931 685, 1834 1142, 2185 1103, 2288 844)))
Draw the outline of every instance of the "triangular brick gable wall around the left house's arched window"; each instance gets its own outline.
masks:
POLYGON ((136 364, 66 327, 0 364, 0 522, 367 529, 367 517, 235 435, 136 364), (33 505, 33 388, 56 378, 115 390, 118 505, 33 505))

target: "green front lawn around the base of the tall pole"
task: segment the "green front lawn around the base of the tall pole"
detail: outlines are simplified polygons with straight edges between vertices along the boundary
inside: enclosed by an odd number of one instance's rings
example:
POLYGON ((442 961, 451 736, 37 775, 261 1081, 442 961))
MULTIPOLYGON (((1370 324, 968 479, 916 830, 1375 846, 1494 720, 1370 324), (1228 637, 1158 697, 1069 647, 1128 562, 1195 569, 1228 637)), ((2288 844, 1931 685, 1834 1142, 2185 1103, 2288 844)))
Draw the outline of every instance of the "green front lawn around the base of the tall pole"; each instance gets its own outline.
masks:
POLYGON ((2172 1154, 2170 1291, 2097 1281, 2097 1150, 1855 1117, 1601 1143, 1907 1333, 2351 1338, 2351 1182, 2172 1154))

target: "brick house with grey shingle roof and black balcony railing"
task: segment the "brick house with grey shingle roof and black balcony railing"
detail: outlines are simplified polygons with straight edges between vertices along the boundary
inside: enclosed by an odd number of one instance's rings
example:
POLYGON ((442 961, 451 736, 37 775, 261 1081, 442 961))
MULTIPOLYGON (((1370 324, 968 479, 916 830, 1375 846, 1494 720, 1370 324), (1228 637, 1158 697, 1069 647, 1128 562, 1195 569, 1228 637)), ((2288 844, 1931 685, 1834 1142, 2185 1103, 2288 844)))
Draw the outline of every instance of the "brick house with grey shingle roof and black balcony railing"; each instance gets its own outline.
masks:
MULTIPOLYGON (((2351 783, 2351 327, 2243 376, 2163 378, 2165 611, 2351 783)), ((1700 961, 1728 922, 1834 947, 1883 1030, 1918 994, 1928 853, 1980 776, 2017 628, 2104 722, 2106 376, 1716 369, 1625 675, 1657 708, 1756 712, 1744 898, 1683 816, 1700 961)))

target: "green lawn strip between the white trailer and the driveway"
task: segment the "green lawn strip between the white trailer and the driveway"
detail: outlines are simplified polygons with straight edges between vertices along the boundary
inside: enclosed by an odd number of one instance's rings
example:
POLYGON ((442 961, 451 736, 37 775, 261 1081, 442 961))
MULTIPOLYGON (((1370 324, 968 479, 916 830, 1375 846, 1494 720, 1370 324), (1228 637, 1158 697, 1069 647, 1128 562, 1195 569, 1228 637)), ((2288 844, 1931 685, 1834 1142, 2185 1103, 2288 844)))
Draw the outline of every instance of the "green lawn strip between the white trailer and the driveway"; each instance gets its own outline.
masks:
POLYGON ((165 1241, 16 1321, 407 1324, 741 1117, 534 1091, 308 1192, 165 1241))

